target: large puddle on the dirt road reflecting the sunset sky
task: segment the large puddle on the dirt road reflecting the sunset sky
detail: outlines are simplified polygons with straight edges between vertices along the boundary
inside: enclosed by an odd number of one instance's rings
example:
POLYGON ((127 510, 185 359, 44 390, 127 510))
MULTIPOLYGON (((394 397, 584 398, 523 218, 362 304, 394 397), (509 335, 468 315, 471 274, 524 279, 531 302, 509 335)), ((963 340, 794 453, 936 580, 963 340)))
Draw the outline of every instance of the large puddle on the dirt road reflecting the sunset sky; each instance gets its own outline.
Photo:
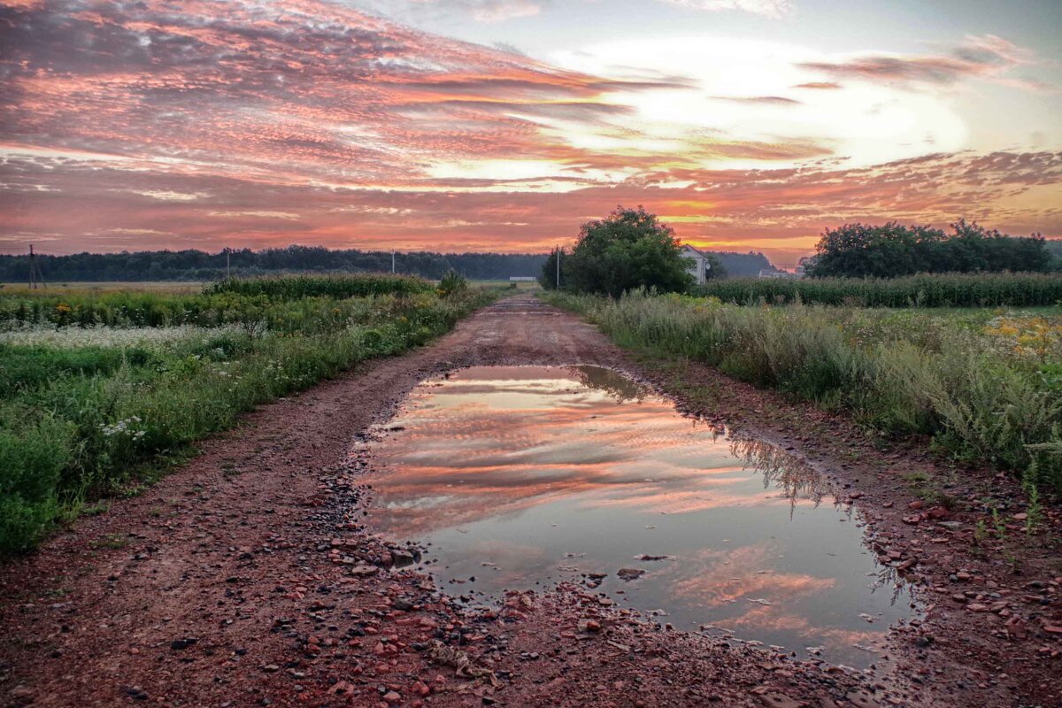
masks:
POLYGON ((680 629, 857 668, 911 612, 812 469, 611 369, 464 369, 384 429, 374 525, 430 543, 423 567, 451 594, 576 581, 680 629))

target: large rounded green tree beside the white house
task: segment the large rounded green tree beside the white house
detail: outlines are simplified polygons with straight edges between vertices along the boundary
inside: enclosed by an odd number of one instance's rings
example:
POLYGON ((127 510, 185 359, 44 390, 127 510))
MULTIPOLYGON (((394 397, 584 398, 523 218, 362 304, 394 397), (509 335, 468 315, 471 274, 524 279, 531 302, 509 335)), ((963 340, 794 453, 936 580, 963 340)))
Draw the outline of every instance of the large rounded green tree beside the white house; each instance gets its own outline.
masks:
MULTIPOLYGON (((555 258, 555 255, 551 258, 555 258)), ((579 229, 571 254, 561 256, 561 289, 618 297, 629 290, 655 288, 684 292, 692 283, 674 230, 643 207, 616 209, 579 229)), ((541 280, 555 279, 555 260, 547 260, 541 280), (547 272, 552 265, 553 271, 547 272)))

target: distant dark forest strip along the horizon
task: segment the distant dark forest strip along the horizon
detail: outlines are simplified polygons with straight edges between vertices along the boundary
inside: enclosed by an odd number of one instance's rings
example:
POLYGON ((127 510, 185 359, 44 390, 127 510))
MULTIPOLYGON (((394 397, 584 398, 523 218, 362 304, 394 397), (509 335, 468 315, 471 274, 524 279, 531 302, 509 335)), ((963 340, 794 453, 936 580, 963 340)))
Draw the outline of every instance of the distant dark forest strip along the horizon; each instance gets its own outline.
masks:
MULTIPOLYGON (((288 246, 264 251, 232 251, 232 274, 238 277, 304 272, 390 272, 391 252, 330 251, 318 246, 288 246)), ((727 275, 756 275, 771 264, 763 254, 716 253, 727 275)), ((144 251, 119 254, 38 255, 46 282, 219 280, 225 277, 225 252, 144 251)), ((511 276, 537 276, 546 254, 440 254, 427 251, 398 253, 395 271, 439 279, 453 269, 472 280, 508 280, 511 276)), ((29 256, 0 255, 0 282, 29 278, 29 256)))

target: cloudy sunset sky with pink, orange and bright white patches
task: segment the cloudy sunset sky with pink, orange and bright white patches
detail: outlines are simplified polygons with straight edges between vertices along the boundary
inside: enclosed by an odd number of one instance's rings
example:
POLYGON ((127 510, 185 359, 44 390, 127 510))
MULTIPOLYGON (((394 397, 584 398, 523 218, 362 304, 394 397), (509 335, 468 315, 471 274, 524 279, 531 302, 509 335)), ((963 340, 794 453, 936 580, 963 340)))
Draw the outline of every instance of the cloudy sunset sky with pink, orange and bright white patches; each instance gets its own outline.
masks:
POLYGON ((0 0, 0 253, 1062 236, 1058 0, 0 0))

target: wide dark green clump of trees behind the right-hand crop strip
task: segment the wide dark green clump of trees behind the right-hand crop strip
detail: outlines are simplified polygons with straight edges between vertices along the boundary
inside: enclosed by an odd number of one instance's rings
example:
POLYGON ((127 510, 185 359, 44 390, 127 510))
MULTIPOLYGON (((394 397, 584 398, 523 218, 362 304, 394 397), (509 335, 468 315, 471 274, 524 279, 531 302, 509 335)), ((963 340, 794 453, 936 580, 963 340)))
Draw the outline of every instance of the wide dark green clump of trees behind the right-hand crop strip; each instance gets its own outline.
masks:
POLYGON ((1010 237, 964 220, 952 224, 952 234, 897 222, 827 228, 806 266, 811 277, 852 278, 1050 270, 1043 237, 1010 237))

